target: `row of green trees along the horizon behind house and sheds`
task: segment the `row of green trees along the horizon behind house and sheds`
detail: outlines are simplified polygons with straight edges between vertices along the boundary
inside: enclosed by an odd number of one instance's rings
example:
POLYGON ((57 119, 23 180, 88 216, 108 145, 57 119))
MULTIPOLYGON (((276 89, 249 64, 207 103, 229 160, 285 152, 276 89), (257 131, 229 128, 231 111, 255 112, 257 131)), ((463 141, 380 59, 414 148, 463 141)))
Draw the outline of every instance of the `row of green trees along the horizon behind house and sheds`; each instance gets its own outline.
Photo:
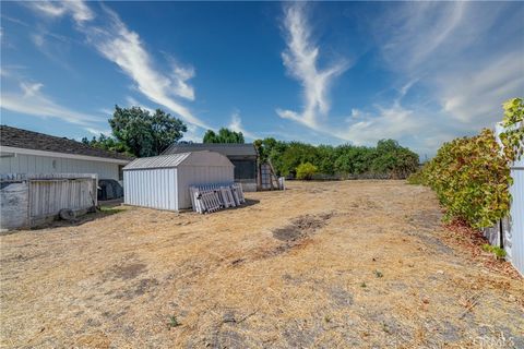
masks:
MULTIPOLYGON (((111 135, 83 143, 94 147, 135 157, 162 154, 170 144, 180 142, 187 125, 169 113, 156 109, 153 113, 140 107, 120 108, 108 120, 111 135)), ((243 134, 226 128, 207 130, 203 143, 245 143, 243 134)), ((418 155, 393 140, 382 140, 377 146, 314 146, 301 142, 283 142, 269 137, 254 145, 260 161, 270 161, 278 176, 301 179, 329 178, 406 178, 418 168, 418 155)))

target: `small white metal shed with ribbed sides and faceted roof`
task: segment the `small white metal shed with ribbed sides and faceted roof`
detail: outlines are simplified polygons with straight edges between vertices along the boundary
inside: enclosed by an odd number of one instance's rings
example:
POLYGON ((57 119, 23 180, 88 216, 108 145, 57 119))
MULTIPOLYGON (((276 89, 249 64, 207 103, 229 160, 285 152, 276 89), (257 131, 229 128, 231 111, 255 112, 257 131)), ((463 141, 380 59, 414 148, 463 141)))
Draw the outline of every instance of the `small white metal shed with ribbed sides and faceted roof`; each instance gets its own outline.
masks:
POLYGON ((215 152, 135 159, 123 168, 124 204, 179 210, 191 207, 190 185, 234 182, 235 166, 215 152))

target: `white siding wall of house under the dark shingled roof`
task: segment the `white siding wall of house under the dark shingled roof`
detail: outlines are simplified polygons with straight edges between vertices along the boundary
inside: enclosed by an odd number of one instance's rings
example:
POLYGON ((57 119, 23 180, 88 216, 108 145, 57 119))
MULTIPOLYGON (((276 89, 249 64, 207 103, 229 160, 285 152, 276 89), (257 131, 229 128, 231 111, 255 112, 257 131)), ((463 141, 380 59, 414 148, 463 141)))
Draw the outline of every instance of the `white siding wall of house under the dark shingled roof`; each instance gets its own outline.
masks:
POLYGON ((16 154, 0 158, 0 173, 97 173, 118 181, 118 165, 104 161, 16 154))

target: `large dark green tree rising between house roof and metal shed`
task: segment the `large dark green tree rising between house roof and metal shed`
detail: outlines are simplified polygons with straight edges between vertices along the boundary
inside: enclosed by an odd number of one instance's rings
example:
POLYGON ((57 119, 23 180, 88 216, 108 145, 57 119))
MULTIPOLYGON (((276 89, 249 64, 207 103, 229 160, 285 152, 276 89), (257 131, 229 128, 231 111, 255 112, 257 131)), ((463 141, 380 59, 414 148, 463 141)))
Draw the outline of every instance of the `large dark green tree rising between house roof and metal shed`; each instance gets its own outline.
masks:
POLYGON ((140 107, 120 108, 115 106, 115 113, 109 119, 112 135, 121 142, 131 154, 138 157, 162 154, 171 143, 178 142, 186 124, 160 109, 155 113, 140 107))

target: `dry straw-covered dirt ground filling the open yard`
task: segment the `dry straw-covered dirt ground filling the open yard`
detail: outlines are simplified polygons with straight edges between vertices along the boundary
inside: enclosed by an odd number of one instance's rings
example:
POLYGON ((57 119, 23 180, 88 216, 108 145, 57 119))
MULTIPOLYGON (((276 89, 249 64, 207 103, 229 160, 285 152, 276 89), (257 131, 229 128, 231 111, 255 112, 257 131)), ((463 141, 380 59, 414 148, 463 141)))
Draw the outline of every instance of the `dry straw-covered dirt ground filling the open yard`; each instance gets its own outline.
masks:
POLYGON ((1 346, 524 348, 524 281, 444 242, 431 191, 288 184, 0 237, 1 346))

